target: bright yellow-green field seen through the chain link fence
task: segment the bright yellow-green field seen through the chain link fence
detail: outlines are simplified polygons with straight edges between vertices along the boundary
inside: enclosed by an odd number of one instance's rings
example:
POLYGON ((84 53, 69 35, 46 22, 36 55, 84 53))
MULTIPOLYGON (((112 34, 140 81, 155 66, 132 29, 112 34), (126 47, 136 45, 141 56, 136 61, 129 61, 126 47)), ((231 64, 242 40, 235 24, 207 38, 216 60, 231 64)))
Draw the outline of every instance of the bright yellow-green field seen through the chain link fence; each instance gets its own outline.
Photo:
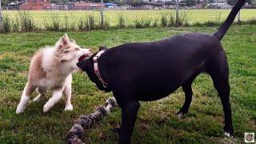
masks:
MULTIPOLYGON (((122 15, 126 19, 126 26, 133 25, 135 20, 160 20, 162 14, 175 14, 175 10, 106 10, 104 16, 110 26, 118 26, 118 18, 122 15)), ((222 22, 226 19, 230 10, 180 10, 180 17, 186 17, 187 22, 194 24, 196 22, 204 23, 208 21, 222 22)), ((18 11, 3 11, 3 15, 10 15, 11 19, 17 18, 18 11)), ((93 10, 31 10, 31 17, 34 19, 36 26, 44 27, 47 23, 51 23, 53 18, 57 19, 60 25, 64 26, 65 22, 70 25, 77 26, 81 19, 86 19, 87 15, 94 15, 95 20, 99 22, 100 12, 93 10)), ((243 21, 256 18, 256 9, 242 9, 241 18, 243 21)))

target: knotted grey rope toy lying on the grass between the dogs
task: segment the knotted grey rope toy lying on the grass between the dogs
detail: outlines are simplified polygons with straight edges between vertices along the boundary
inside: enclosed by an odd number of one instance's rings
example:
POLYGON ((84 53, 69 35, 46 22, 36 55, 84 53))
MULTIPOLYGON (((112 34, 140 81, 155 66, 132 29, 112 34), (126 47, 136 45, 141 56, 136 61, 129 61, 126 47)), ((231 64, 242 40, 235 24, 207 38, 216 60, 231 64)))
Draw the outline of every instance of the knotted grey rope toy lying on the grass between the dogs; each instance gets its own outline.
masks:
POLYGON ((98 122, 104 116, 110 114, 110 110, 112 110, 114 106, 118 106, 118 103, 114 97, 110 97, 106 100, 105 106, 98 106, 97 111, 95 111, 93 114, 82 115, 68 132, 66 143, 84 144, 84 142, 81 140, 82 134, 85 132, 84 129, 90 128, 94 122, 98 122))

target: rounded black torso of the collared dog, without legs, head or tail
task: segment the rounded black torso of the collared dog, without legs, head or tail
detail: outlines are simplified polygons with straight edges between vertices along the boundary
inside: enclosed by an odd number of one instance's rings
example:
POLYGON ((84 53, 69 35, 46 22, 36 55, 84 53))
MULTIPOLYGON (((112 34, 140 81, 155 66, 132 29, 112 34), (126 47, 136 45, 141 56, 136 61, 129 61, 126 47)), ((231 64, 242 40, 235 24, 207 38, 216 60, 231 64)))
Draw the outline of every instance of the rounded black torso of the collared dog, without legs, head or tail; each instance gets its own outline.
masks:
POLYGON ((151 101, 166 97, 192 75, 206 71, 206 63, 223 50, 214 36, 190 33, 158 42, 128 43, 105 53, 102 69, 108 71, 110 86, 129 85, 136 99, 151 101))

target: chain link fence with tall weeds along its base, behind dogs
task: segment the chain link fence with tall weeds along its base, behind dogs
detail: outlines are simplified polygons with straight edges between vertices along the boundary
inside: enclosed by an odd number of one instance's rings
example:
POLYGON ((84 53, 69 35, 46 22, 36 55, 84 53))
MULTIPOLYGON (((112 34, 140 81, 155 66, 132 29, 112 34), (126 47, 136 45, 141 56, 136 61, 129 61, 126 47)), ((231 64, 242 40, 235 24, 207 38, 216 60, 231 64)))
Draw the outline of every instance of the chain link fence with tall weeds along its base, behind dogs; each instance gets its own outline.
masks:
MULTIPOLYGON (((89 3, 55 5, 47 1, 26 1, 0 9, 2 31, 94 30, 110 27, 216 26, 223 22, 232 6, 202 3, 186 6, 174 2, 89 3), (11 10, 13 9, 13 10, 11 10), (14 10, 15 9, 15 10, 14 10)), ((1 7, 1 6, 0 6, 1 7)), ((248 6, 247 6, 248 7, 248 6)), ((256 9, 242 9, 239 20, 255 22, 256 9)))

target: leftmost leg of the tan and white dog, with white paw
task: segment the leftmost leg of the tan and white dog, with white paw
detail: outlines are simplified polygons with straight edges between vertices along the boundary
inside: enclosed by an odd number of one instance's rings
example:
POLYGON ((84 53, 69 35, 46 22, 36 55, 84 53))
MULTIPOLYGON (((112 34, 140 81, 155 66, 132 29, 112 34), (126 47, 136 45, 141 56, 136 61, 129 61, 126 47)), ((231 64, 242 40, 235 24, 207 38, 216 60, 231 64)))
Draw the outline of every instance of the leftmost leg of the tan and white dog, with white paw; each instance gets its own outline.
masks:
POLYGON ((26 86, 22 92, 21 101, 18 103, 16 114, 21 114, 25 111, 28 102, 30 101, 30 95, 33 93, 36 87, 32 86, 30 82, 26 83, 26 86))

